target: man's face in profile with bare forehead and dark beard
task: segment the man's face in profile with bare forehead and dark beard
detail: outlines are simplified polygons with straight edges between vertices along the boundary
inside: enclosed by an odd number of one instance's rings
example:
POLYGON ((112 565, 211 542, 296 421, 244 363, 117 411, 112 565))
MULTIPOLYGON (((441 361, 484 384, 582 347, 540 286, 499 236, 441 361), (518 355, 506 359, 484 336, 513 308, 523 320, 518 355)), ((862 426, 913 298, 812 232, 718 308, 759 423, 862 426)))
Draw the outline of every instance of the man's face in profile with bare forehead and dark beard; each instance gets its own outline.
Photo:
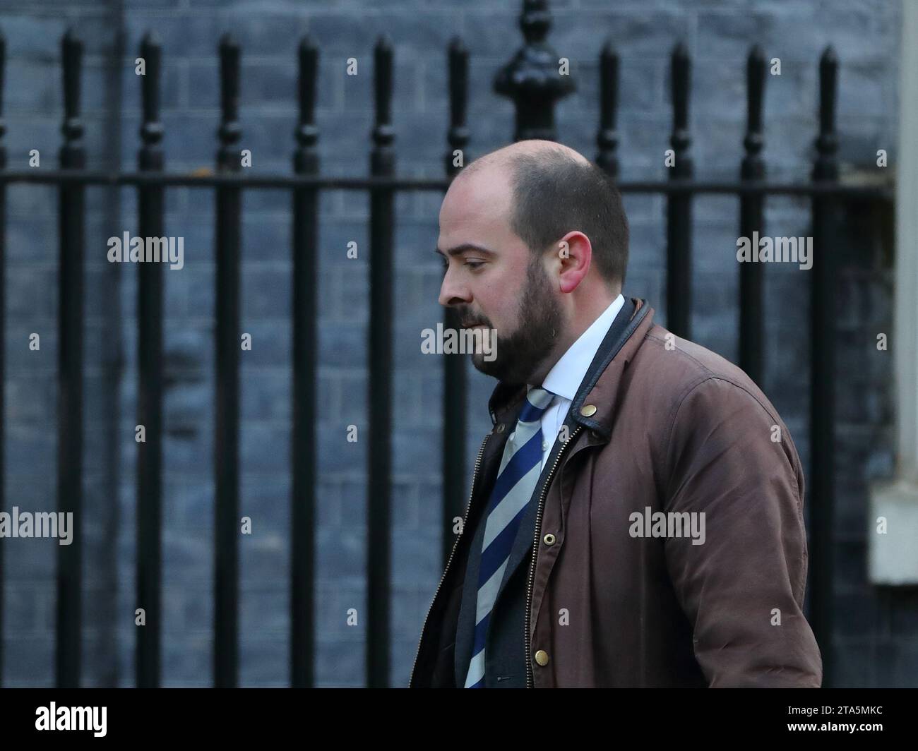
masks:
POLYGON ((450 186, 440 210, 437 248, 467 246, 448 260, 440 304, 456 308, 460 325, 495 330, 493 360, 472 355, 487 375, 512 384, 531 383, 561 333, 558 290, 543 264, 509 228, 509 185, 496 170, 469 175, 450 186), (477 247, 471 247, 471 246, 477 247), (490 252, 488 252, 490 251, 490 252))

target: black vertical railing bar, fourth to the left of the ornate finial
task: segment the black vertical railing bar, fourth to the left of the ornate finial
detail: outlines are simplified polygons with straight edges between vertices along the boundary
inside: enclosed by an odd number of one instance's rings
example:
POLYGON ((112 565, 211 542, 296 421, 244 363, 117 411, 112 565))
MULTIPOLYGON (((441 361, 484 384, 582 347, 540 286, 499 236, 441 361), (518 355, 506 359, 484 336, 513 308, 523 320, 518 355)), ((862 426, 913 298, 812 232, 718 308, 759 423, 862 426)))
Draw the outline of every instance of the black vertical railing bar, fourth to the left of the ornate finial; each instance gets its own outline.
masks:
MULTIPOLYGON (((229 33, 220 39, 219 54, 221 119, 217 170, 238 172, 241 168, 240 47, 229 33)), ((233 688, 239 680, 240 187, 217 188, 216 220, 214 685, 233 688)))

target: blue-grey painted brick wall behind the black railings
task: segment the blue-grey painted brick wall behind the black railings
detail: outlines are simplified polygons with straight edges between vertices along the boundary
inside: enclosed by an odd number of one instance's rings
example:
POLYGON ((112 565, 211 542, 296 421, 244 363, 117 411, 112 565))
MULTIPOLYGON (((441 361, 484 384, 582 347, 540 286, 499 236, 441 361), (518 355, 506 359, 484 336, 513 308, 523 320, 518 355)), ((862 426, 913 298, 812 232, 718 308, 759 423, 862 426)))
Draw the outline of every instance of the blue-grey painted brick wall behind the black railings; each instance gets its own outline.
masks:
MULTIPOLYGON (((805 177, 816 134, 817 61, 832 43, 841 61, 840 157, 846 169, 876 171, 879 148, 895 162, 898 3, 885 0, 555 2, 549 40, 571 60, 578 91, 557 108, 560 140, 595 155, 599 50, 621 53, 620 157, 624 178, 663 178, 670 129, 669 51, 685 39, 692 56, 691 153, 701 176, 733 176, 742 156, 744 61, 760 42, 779 57, 769 76, 766 149, 769 174, 805 177)), ((90 163, 133 169, 139 146, 140 86, 133 73, 140 38, 155 29, 163 45, 162 122, 167 168, 212 166, 217 148, 218 56, 224 31, 241 43, 240 148, 252 172, 288 172, 296 121, 296 50, 309 31, 320 44, 319 152, 325 174, 366 174, 373 124, 373 46, 382 32, 396 50, 394 118, 400 174, 440 176, 447 128, 446 53, 453 34, 470 50, 468 158, 505 144, 509 102, 491 77, 521 43, 516 0, 469 4, 391 0, 207 0, 19 2, 9 0, 0 28, 7 39, 6 144, 24 166, 31 148, 56 160, 62 118, 60 37, 73 23, 86 44, 84 121, 90 163), (118 46, 118 30, 123 46, 118 46), (359 75, 344 74, 354 57, 359 75)), ((209 191, 171 190, 166 230, 185 238, 185 268, 165 273, 166 440, 163 496, 163 682, 209 685, 212 626, 214 215, 209 191)), ((439 541, 441 364, 421 358, 420 330, 440 319, 437 237, 441 197, 398 196, 396 235, 395 433, 393 436, 393 685, 408 680, 420 624, 442 573, 439 541)), ((241 510, 253 534, 241 539, 241 683, 285 685, 289 649, 288 565, 290 403, 290 201, 283 191, 244 197, 241 510)), ((665 309, 665 203, 625 197, 632 226, 626 292, 665 309)), ((134 682, 136 443, 136 270, 105 262, 105 239, 136 230, 131 190, 89 191, 86 301, 87 590, 84 684, 134 682), (115 266, 114 268, 112 266, 115 266)), ((8 191, 6 325, 6 506, 55 503, 57 245, 51 188, 8 191), (40 353, 27 337, 40 331, 40 353)), ((319 234, 319 529, 316 582, 320 686, 361 686, 364 674, 364 562, 368 277, 366 196, 329 192, 319 234), (360 258, 345 256, 348 241, 360 258), (348 424, 361 442, 345 440, 348 424), (346 625, 356 608, 361 625, 346 625)), ((695 202, 694 339, 735 360, 738 274, 735 198, 695 202)), ((808 233, 809 205, 769 200, 767 228, 808 233)), ((852 243, 842 274, 837 530, 840 685, 918 683, 918 600, 876 591, 865 581, 866 483, 891 471, 890 361, 876 353, 876 331, 890 329, 893 280, 852 243), (880 327, 880 328, 878 328, 880 327), (882 328, 885 327, 885 328, 882 328), (871 347, 873 351, 871 352, 871 347), (847 617, 851 614, 851 617, 847 617)), ((795 268, 767 270, 767 358, 763 387, 808 461, 807 289, 795 268)), ((469 366, 467 465, 487 430, 493 381, 469 366)), ((467 491, 467 487, 466 487, 467 491)), ((445 533, 450 533, 448 530, 445 533)), ((46 541, 47 542, 47 541, 46 541)), ((4 680, 53 682, 54 560, 51 544, 5 541, 4 680)))

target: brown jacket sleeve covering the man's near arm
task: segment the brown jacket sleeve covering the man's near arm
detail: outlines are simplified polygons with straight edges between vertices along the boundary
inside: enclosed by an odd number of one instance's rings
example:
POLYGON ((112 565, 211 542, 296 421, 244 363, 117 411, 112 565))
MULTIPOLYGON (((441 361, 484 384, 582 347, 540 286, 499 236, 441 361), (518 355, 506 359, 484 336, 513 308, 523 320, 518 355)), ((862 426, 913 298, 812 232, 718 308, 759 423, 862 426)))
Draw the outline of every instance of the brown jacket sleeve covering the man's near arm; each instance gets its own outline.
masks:
POLYGON ((703 515, 704 534, 667 536, 666 567, 709 686, 819 688, 822 657, 801 610, 803 475, 787 427, 720 377, 691 387, 671 424, 665 510, 703 515))

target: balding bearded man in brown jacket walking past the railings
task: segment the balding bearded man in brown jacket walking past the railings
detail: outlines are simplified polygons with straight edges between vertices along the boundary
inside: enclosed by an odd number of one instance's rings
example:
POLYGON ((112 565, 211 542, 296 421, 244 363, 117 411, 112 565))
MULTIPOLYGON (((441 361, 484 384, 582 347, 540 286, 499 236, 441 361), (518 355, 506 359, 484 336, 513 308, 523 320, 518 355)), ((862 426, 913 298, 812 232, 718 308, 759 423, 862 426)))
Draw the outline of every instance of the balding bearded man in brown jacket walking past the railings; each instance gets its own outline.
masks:
POLYGON ((621 295, 614 185, 551 141, 494 151, 437 252, 499 383, 409 685, 818 688, 796 448, 743 371, 621 295))

